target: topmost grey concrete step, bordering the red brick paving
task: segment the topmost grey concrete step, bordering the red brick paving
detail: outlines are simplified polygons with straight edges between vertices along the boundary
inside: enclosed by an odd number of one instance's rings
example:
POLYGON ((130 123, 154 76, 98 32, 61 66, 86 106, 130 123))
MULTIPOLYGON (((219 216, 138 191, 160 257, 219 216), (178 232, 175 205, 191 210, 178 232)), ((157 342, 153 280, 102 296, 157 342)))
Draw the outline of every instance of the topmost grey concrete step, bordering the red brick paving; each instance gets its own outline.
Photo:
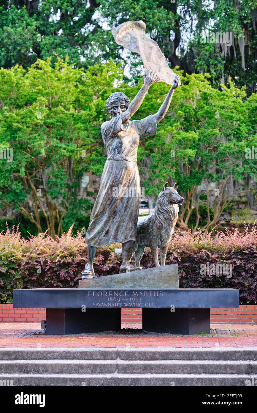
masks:
POLYGON ((157 361, 157 360, 231 360, 257 361, 257 348, 40 348, 13 349, 0 351, 0 360, 120 360, 157 361))

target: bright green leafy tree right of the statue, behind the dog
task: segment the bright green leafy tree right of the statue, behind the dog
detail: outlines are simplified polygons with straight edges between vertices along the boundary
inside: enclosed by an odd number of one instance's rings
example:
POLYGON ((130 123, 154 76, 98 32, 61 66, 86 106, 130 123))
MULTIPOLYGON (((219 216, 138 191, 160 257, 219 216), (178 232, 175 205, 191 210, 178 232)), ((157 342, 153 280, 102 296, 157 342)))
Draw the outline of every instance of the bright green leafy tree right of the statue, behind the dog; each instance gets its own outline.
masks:
MULTIPOLYGON (((229 182, 256 177, 257 173, 255 159, 245 157, 246 148, 257 147, 257 96, 252 94, 246 99, 245 87, 239 90, 231 79, 228 87, 219 91, 212 88, 209 77, 181 76, 182 86, 175 91, 157 135, 141 139, 139 148, 141 179, 147 196, 156 199, 165 180, 170 185, 179 182, 179 193, 186 200, 178 225, 184 229, 189 228, 195 208, 194 229, 198 227, 199 187, 204 181, 208 187, 207 223, 203 228, 209 229, 231 201, 226 191, 229 182), (211 195, 214 200, 210 212, 211 195)), ((157 112, 168 88, 164 83, 152 85, 136 116, 157 112)))

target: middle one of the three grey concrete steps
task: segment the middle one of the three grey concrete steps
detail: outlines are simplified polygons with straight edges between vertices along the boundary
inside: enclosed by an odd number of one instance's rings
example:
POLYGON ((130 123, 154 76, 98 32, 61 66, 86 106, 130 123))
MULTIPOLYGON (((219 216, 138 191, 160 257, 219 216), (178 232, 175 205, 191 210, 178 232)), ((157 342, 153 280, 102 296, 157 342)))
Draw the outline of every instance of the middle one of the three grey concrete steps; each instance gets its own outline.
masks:
POLYGON ((257 361, 1 360, 1 374, 255 374, 257 361))

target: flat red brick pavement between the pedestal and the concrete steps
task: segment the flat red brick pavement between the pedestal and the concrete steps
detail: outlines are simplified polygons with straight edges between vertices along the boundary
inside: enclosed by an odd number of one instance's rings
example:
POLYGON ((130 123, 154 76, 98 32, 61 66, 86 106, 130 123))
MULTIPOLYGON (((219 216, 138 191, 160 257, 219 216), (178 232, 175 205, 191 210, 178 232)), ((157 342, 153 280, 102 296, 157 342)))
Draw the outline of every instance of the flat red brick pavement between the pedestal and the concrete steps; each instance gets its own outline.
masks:
POLYGON ((0 347, 257 347, 257 325, 211 325, 210 335, 146 333, 127 324, 120 332, 46 335, 38 323, 1 323, 0 347))

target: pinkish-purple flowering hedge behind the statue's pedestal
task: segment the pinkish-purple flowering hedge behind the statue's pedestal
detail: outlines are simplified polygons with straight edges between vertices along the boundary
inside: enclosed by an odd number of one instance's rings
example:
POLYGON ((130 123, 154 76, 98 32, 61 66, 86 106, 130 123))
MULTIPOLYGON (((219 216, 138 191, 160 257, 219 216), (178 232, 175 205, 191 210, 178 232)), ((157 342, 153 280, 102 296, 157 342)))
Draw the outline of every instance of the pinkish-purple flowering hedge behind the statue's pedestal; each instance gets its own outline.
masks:
MULTIPOLYGON (((19 229, 0 233, 0 303, 12 302, 15 288, 77 288, 87 261, 85 239, 73 236, 72 227, 57 241, 40 234, 28 240, 19 229)), ((95 258, 97 275, 118 273, 121 258, 114 246, 99 248, 95 258)), ((257 304, 257 227, 244 233, 212 231, 194 235, 174 235, 166 265, 179 266, 180 288, 236 288, 240 304, 257 304), (204 268, 226 264, 229 274, 212 273, 204 268), (215 266, 213 265, 215 264, 215 266)), ((141 260, 144 268, 153 266, 149 249, 141 260)))

